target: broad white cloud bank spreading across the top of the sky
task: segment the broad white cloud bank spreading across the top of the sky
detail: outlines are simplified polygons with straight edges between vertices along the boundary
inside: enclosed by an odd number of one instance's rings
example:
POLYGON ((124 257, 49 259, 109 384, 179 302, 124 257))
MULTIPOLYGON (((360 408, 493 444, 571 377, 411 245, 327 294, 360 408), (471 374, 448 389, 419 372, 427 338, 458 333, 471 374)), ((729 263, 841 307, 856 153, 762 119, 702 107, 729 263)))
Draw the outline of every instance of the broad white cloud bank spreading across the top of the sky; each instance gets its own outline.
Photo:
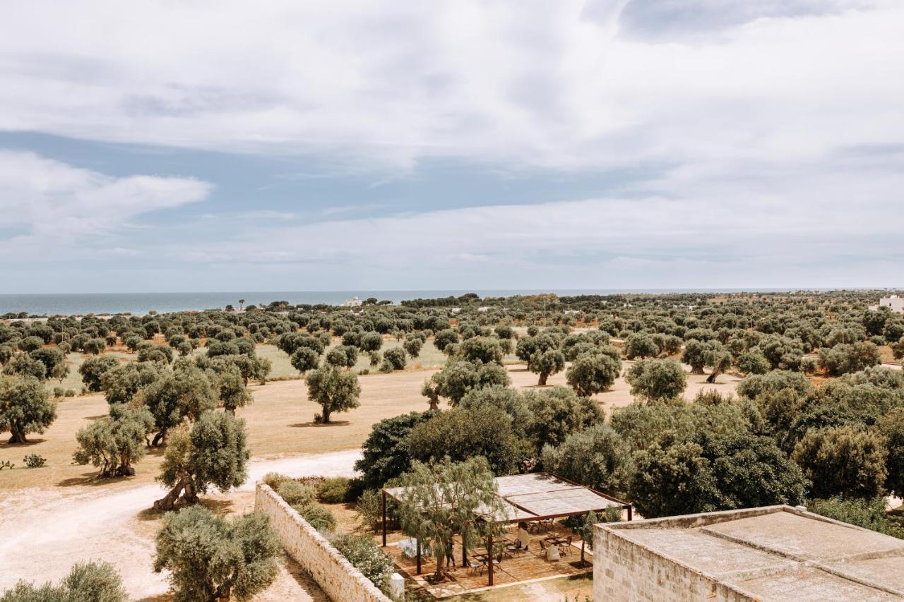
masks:
POLYGON ((401 167, 794 160, 904 136, 899 2, 672 43, 620 37, 625 4, 16 3, 0 127, 401 167))

